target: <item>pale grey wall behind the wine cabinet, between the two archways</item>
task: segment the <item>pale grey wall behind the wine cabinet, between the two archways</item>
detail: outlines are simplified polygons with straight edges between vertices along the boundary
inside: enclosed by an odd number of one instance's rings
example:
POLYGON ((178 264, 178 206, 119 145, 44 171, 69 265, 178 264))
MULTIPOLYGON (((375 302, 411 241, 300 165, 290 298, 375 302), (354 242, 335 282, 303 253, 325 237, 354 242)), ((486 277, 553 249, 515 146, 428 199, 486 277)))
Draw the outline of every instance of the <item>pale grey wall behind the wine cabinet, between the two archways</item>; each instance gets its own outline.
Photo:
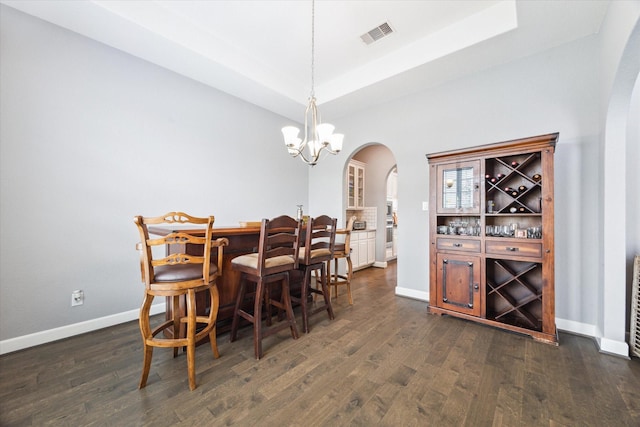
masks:
MULTIPOLYGON (((601 178, 597 61, 597 38, 589 37, 339 120, 349 149, 377 141, 396 157, 402 178, 397 293, 428 298, 425 155, 557 131, 556 315, 565 328, 594 331, 598 280, 591 272, 598 252, 589 245, 600 203, 590 188, 601 178)), ((319 180, 311 177, 311 203, 325 201, 315 189, 340 170, 326 166, 319 180)))

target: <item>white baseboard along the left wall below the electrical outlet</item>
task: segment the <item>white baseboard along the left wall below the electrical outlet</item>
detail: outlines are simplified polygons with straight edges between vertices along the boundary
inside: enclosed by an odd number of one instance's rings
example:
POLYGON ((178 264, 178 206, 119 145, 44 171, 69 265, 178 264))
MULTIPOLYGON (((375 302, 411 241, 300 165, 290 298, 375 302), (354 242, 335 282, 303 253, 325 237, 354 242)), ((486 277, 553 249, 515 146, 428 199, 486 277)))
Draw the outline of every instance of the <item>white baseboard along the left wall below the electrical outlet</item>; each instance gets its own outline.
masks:
MULTIPOLYGON (((165 304, 154 304, 151 306, 151 314, 159 314, 165 312, 165 304)), ((138 319, 139 309, 125 311, 124 313, 112 314, 110 316, 91 319, 72 325, 61 326, 59 328, 40 331, 21 337, 9 338, 0 341, 0 354, 12 353, 29 347, 35 347, 40 344, 69 338, 74 335, 80 335, 87 332, 97 331, 98 329, 107 328, 109 326, 119 325, 120 323, 129 322, 138 319)))

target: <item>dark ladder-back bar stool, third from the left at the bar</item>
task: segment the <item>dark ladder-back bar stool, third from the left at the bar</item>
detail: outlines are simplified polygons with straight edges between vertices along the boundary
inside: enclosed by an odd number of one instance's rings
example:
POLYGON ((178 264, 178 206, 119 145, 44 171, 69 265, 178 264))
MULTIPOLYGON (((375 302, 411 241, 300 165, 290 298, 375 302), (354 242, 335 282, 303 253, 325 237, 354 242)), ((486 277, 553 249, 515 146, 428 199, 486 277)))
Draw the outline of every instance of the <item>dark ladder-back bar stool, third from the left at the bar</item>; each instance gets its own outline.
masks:
POLYGON ((300 298, 292 296, 291 299, 302 307, 302 330, 305 333, 309 332, 309 316, 326 310, 329 319, 335 318, 333 307, 331 307, 326 264, 333 258, 336 223, 336 218, 322 215, 310 218, 304 227, 304 246, 300 248, 298 255, 298 269, 302 271, 304 279, 300 298), (312 287, 311 273, 314 273, 317 278, 318 272, 320 272, 320 280, 315 280, 316 287, 312 287), (321 295, 324 303, 316 304, 315 298, 313 302, 309 301, 311 295, 314 297, 321 295))

